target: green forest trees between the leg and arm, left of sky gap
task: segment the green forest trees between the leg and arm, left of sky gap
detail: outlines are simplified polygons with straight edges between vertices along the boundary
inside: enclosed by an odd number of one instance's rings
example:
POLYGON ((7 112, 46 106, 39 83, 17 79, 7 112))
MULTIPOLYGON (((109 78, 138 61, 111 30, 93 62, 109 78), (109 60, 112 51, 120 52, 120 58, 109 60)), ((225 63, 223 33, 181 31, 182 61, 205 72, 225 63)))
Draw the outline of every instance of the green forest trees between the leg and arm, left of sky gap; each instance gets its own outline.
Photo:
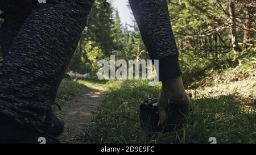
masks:
POLYGON ((97 61, 115 53, 122 53, 125 39, 118 12, 109 7, 109 12, 102 7, 102 1, 89 16, 89 23, 82 33, 79 46, 73 56, 69 69, 78 73, 97 73, 97 61))

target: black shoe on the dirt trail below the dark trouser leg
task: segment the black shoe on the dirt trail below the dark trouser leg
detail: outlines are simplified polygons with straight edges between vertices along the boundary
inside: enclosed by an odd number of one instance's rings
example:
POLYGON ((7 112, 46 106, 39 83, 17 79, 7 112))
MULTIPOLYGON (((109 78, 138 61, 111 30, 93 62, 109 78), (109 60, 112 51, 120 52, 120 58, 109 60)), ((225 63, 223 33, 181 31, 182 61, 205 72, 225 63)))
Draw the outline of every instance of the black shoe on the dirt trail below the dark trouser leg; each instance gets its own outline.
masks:
MULTIPOLYGON (((56 105, 59 107, 59 110, 62 111, 59 104, 56 105)), ((39 127, 39 129, 42 131, 46 131, 47 129, 49 129, 47 133, 54 136, 59 136, 64 130, 64 125, 64 120, 59 116, 53 114, 53 111, 50 110, 46 114, 46 120, 44 124, 41 127, 39 127), (51 128, 49 128, 49 126, 51 126, 51 128)))

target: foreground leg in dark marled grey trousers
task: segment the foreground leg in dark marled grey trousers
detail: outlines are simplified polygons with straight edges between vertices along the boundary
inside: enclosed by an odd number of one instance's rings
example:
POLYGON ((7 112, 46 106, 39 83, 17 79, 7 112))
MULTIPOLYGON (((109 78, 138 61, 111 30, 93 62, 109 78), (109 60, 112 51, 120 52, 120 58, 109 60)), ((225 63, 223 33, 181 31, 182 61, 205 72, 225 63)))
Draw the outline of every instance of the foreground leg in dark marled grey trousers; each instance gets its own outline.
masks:
POLYGON ((92 0, 48 0, 31 12, 0 70, 0 114, 38 127, 79 42, 92 0))

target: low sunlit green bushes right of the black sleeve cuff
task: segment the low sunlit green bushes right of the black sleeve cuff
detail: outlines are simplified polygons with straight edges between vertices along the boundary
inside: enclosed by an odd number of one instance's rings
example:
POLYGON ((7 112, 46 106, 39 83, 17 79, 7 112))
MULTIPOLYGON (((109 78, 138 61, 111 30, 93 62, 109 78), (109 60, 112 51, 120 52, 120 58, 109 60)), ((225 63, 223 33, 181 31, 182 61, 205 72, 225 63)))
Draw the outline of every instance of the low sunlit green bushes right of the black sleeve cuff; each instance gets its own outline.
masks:
MULTIPOLYGON (((200 57, 193 51, 180 54, 180 66, 183 70, 184 84, 187 87, 197 87, 195 85, 201 81, 205 81, 206 77, 212 76, 212 70, 226 70, 229 68, 243 68, 243 69, 255 69, 255 49, 242 52, 232 51, 224 53, 215 57, 209 55, 208 57, 200 57), (191 85, 192 84, 192 85, 191 85)), ((228 79, 226 79, 228 80, 228 79)))

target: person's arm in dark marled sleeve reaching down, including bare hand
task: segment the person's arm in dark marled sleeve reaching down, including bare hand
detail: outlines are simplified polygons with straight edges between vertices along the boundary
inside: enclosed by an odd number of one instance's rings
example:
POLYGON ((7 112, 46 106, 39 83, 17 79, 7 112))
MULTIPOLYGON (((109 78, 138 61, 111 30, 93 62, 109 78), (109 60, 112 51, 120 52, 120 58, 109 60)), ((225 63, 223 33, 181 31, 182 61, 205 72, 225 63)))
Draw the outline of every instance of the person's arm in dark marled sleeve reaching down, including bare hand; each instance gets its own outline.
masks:
POLYGON ((166 120, 168 100, 178 100, 180 106, 172 107, 172 124, 177 124, 188 111, 189 100, 181 79, 179 52, 172 32, 166 0, 129 0, 142 39, 150 58, 159 60, 159 80, 163 90, 158 102, 162 122, 166 120), (178 112, 180 111, 180 112, 178 112))

